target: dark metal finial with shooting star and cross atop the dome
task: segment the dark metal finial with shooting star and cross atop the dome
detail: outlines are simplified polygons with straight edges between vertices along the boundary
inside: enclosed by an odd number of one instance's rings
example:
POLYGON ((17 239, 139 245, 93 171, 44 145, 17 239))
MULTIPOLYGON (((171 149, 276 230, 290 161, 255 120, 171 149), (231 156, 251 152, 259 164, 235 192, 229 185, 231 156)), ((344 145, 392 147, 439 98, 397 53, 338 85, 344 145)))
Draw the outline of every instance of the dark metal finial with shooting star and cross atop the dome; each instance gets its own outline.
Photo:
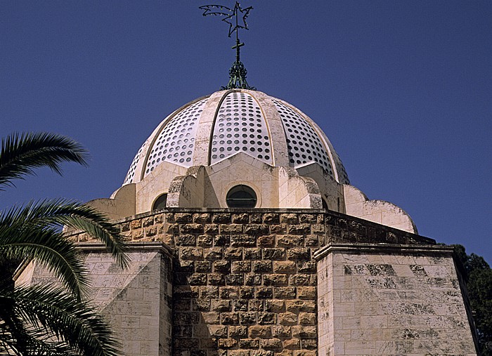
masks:
POLYGON ((232 47, 233 49, 235 49, 235 62, 233 62, 233 65, 229 70, 229 82, 227 86, 221 86, 221 90, 235 88, 256 90, 257 88, 254 88, 254 86, 249 86, 246 81, 247 70, 245 68, 245 65, 243 65, 240 60, 240 48, 245 44, 239 41, 238 34, 239 29, 248 29, 246 18, 248 15, 250 15, 250 11, 253 9, 253 7, 249 6, 247 8, 241 8, 238 1, 236 1, 234 8, 228 8, 227 6, 222 5, 204 5, 200 6, 200 9, 204 10, 204 16, 225 16, 222 21, 228 23, 229 25, 228 36, 231 37, 231 34, 235 32, 235 45, 232 47), (240 25, 238 20, 240 13, 242 13, 242 25, 240 25), (233 20, 233 18, 235 19, 233 20))

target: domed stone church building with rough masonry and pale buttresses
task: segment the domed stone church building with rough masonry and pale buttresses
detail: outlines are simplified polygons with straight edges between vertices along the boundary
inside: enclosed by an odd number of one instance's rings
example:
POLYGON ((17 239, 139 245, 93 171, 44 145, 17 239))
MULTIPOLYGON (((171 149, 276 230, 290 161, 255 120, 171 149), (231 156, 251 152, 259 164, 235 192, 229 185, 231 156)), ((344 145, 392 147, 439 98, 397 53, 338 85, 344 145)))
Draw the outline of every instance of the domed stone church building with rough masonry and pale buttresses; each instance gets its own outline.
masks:
MULTIPOLYGON (((351 185, 321 128, 278 98, 183 105, 90 204, 131 245, 122 271, 71 233, 126 355, 477 355, 453 249, 351 185)), ((30 265, 20 280, 46 278, 30 265)))

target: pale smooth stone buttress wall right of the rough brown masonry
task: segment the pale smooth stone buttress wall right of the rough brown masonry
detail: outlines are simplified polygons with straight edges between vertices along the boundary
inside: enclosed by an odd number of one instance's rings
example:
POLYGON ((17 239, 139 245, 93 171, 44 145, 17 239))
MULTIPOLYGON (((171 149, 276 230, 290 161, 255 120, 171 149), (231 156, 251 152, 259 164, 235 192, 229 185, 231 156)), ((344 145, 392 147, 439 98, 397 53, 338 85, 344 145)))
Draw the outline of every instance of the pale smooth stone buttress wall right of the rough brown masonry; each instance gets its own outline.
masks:
POLYGON ((319 355, 477 355, 446 246, 318 251, 319 355))

